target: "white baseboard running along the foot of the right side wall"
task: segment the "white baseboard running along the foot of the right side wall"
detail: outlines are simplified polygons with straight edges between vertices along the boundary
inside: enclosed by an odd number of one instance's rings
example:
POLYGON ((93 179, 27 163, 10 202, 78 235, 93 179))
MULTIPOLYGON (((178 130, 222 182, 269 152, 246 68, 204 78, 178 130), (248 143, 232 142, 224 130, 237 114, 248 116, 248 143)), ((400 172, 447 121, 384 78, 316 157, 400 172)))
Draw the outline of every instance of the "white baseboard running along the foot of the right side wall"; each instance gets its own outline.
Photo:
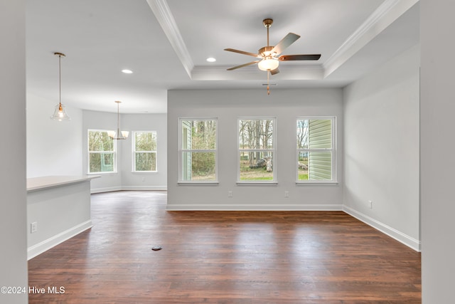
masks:
POLYGON ((370 216, 367 216, 359 211, 356 211, 346 205, 343 206, 343 211, 345 211, 350 216, 355 217, 355 219, 363 221, 363 223, 368 224, 372 226, 374 229, 381 231, 383 234, 387 234, 387 236, 390 236, 392 239, 395 239, 400 243, 405 244, 406 246, 414 249, 415 251, 418 252, 421 251, 421 243, 419 240, 414 239, 411 236, 408 236, 407 234, 404 234, 401 231, 398 231, 397 229, 387 226, 386 224, 381 223, 380 221, 377 221, 371 218, 370 216))

